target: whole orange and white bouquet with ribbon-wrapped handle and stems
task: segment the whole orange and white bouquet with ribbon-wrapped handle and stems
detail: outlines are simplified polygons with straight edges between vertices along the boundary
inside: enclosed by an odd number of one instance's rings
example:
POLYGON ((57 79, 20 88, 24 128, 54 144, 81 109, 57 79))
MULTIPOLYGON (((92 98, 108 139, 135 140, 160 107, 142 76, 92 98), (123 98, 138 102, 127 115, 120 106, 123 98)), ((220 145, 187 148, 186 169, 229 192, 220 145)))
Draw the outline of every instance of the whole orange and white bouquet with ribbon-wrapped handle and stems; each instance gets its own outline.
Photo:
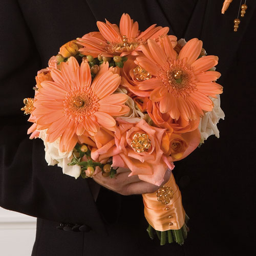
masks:
MULTIPOLYGON (((209 135, 219 137, 218 57, 197 38, 177 42, 168 27, 140 32, 128 14, 119 27, 108 20, 97 26, 38 71, 35 96, 22 109, 33 122, 28 134, 44 141, 49 165, 75 178, 114 177, 127 167, 160 186, 174 161, 209 135)), ((143 201, 150 237, 183 244, 187 216, 173 175, 143 201)))

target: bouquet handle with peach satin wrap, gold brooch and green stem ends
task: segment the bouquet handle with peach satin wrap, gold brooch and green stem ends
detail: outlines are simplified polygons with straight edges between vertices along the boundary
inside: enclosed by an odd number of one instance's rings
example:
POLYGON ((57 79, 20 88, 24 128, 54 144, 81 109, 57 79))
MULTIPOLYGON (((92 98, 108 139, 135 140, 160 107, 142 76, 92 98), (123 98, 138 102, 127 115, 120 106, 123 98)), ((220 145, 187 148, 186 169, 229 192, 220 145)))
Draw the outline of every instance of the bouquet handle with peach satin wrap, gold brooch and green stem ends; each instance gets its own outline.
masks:
POLYGON ((151 239, 155 233, 160 244, 177 242, 182 245, 187 237, 188 217, 181 202, 181 193, 173 174, 155 193, 143 194, 144 215, 149 224, 151 239))

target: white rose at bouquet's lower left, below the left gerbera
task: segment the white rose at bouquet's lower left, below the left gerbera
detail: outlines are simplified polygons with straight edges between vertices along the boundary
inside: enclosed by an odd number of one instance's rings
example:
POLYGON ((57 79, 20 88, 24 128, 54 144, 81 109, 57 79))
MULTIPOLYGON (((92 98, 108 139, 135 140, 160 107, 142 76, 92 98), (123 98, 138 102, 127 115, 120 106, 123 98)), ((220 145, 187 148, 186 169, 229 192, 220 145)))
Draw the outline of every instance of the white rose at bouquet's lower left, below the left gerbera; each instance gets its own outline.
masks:
POLYGON ((46 161, 48 165, 55 165, 57 164, 59 167, 62 167, 63 174, 70 175, 75 177, 76 179, 80 176, 81 167, 79 165, 72 165, 69 166, 68 163, 71 162, 73 155, 72 152, 60 152, 59 150, 59 140, 55 140, 54 142, 46 142, 46 131, 40 131, 39 138, 44 141, 45 144, 45 152, 46 152, 46 161))

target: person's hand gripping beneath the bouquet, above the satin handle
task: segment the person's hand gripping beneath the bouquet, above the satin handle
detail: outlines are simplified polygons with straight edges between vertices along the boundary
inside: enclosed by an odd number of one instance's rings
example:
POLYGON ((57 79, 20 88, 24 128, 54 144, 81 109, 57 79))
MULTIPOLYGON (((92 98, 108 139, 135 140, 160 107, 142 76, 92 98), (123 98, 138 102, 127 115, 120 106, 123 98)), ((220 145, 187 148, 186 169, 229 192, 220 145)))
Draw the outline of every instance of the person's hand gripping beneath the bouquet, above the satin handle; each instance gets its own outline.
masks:
POLYGON ((103 177, 101 173, 93 177, 93 179, 103 187, 115 191, 123 196, 154 193, 162 185, 164 185, 170 177, 170 170, 166 170, 164 181, 160 186, 142 181, 138 175, 128 177, 131 170, 128 168, 118 168, 115 178, 103 177))

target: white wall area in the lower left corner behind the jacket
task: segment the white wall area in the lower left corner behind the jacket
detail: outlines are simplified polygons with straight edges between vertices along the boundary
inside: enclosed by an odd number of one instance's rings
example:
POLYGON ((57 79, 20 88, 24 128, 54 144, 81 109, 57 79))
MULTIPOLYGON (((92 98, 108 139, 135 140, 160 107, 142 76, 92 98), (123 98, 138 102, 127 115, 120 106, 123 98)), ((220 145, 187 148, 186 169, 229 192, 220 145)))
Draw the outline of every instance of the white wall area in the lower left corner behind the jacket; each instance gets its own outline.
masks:
POLYGON ((1 256, 30 256, 35 232, 36 218, 0 207, 1 256))

